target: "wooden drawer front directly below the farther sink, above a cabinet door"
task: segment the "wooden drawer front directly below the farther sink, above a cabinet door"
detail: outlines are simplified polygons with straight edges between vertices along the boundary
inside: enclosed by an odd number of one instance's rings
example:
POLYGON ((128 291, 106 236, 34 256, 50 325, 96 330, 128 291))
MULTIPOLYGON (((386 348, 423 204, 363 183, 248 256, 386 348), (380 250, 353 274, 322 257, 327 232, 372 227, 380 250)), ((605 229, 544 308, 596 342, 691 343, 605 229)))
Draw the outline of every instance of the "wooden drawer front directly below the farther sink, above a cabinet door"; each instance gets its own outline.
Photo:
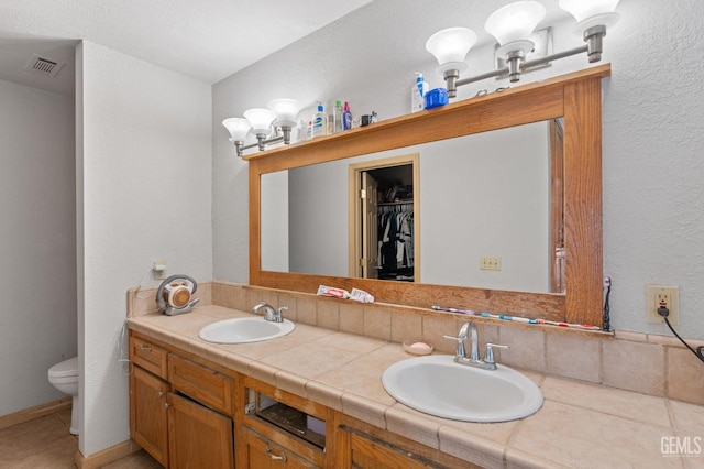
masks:
POLYGON ((180 391, 213 411, 226 415, 234 412, 234 383, 224 374, 172 353, 168 356, 168 381, 174 391, 180 391))

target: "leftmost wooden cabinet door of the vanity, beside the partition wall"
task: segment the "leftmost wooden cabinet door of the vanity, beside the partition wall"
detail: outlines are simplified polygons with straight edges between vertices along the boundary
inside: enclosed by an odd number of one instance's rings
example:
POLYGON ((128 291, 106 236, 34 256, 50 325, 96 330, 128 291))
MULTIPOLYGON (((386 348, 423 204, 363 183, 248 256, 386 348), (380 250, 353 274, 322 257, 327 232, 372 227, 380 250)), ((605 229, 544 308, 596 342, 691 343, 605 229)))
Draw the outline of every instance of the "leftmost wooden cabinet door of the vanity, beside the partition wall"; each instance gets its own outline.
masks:
POLYGON ((130 374, 130 435, 164 467, 168 467, 168 388, 166 381, 140 367, 130 374))

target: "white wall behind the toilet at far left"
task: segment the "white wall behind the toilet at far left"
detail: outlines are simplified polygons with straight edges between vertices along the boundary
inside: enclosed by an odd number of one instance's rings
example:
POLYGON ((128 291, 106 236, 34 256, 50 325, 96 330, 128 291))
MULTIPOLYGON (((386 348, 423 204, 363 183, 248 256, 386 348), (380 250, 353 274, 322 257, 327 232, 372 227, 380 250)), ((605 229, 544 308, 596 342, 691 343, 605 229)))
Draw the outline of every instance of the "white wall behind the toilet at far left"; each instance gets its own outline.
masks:
POLYGON ((0 415, 64 396, 76 356, 73 98, 0 80, 0 415))

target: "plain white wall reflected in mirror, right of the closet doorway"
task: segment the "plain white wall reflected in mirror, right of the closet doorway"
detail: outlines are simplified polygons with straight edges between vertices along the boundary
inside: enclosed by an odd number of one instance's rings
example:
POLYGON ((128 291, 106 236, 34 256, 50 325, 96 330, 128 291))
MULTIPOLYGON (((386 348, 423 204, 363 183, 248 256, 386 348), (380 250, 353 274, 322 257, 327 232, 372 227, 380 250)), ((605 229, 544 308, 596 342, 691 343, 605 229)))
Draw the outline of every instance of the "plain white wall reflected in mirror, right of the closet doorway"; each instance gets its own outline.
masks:
POLYGON ((550 292, 549 138, 536 122, 420 151, 424 283, 550 292), (502 270, 481 270, 483 255, 502 270))

